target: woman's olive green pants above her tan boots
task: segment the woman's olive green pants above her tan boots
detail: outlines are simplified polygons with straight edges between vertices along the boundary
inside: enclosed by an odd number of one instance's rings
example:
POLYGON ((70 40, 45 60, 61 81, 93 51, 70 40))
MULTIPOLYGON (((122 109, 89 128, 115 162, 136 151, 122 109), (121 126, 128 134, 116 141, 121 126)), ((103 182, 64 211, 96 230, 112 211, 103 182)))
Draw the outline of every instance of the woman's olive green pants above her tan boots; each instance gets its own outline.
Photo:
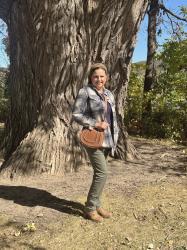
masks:
POLYGON ((85 203, 85 211, 90 212, 101 206, 100 197, 108 175, 107 156, 110 152, 110 149, 85 148, 94 172, 92 184, 88 193, 87 201, 85 203))

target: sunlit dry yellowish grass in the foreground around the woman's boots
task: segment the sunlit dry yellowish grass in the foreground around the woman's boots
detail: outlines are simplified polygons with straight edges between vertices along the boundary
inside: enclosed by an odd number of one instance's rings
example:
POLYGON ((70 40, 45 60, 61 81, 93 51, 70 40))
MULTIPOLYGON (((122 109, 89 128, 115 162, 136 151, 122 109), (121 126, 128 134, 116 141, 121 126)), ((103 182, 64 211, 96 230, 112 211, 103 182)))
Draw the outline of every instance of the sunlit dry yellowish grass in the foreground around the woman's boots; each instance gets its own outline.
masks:
MULTIPOLYGON (((54 221, 35 219, 36 231, 22 232, 19 220, 1 214, 0 248, 186 249, 186 191, 183 185, 163 183, 146 185, 130 196, 107 193, 104 204, 113 211, 113 218, 102 224, 59 214, 54 221)), ((84 198, 77 200, 83 203, 84 198)))

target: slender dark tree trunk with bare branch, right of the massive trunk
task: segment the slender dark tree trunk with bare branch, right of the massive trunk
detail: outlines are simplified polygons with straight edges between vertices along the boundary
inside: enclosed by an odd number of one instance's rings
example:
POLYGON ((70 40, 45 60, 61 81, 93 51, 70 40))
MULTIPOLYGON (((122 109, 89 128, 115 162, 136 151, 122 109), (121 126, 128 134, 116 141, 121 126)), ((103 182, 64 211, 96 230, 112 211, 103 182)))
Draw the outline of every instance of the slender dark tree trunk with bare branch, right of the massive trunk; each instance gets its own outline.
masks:
MULTIPOLYGON (((181 7, 182 14, 185 13, 185 9, 181 7)), ((167 16, 170 22, 172 32, 177 37, 180 37, 181 24, 179 21, 187 22, 185 16, 176 15, 168 8, 165 7, 161 0, 151 0, 148 8, 148 41, 147 41, 147 61, 146 71, 144 79, 144 104, 142 111, 142 123, 143 133, 147 130, 147 120, 152 111, 151 95, 148 94, 156 84, 156 51, 157 51, 157 35, 160 34, 161 28, 158 29, 159 23, 164 22, 163 15, 167 16), (177 22, 174 19, 177 19, 177 22)))

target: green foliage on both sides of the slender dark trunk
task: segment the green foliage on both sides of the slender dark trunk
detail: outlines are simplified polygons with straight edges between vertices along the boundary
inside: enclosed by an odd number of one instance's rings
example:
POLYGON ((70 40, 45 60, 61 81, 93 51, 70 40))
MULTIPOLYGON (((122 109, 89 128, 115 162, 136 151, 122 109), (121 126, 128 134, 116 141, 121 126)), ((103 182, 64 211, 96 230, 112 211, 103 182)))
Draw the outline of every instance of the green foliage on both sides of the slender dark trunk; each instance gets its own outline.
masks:
POLYGON ((144 95, 144 74, 140 68, 144 65, 133 66, 125 111, 126 125, 130 132, 143 132, 147 136, 186 141, 187 40, 167 41, 157 55, 157 61, 159 64, 157 84, 152 91, 144 95), (142 110, 148 100, 150 100, 149 115, 146 123, 142 125, 142 110))

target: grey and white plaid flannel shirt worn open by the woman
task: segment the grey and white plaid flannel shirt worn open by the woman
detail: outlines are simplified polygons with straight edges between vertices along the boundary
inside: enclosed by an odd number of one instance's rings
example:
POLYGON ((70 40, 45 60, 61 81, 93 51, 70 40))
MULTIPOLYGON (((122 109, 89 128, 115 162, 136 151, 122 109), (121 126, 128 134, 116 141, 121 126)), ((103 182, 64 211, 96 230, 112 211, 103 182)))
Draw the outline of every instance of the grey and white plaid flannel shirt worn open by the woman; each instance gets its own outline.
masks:
MULTIPOLYGON (((106 88, 104 89, 104 95, 107 96, 107 101, 111 105, 113 136, 110 127, 106 128, 104 130, 104 142, 102 147, 112 148, 112 155, 114 155, 119 133, 115 101, 113 94, 106 88)), ((105 119, 104 114, 104 100, 98 91, 92 85, 87 85, 80 89, 73 107, 73 120, 83 127, 95 127, 96 122, 105 119)))

